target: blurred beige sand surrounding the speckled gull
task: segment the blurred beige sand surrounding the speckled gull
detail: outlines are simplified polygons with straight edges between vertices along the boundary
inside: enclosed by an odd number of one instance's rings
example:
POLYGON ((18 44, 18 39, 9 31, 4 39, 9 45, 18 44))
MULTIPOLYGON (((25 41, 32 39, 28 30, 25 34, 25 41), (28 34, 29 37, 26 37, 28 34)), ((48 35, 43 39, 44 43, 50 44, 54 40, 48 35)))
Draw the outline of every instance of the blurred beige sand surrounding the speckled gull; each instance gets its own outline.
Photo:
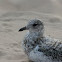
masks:
POLYGON ((22 49, 31 19, 40 19, 45 34, 62 40, 62 0, 0 0, 0 62, 28 62, 22 49))

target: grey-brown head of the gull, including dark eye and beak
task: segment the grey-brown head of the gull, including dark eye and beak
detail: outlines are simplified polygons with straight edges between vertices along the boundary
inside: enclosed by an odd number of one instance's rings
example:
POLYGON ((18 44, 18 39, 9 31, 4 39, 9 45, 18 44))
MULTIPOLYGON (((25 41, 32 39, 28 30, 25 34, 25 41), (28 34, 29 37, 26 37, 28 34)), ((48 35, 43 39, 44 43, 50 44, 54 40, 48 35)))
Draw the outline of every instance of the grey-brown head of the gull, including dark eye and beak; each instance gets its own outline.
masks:
POLYGON ((43 29, 43 22, 38 19, 33 19, 28 22, 27 26, 21 28, 19 31, 29 30, 29 32, 40 32, 43 31, 43 29))

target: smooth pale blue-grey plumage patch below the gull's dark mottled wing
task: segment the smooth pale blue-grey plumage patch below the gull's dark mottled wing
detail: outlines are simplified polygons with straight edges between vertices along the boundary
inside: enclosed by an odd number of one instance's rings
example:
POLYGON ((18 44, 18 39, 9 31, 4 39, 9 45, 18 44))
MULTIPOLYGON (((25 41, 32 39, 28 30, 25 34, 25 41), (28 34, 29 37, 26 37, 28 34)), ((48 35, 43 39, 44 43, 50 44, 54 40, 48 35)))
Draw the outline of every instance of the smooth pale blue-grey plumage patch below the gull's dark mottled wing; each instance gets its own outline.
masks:
POLYGON ((30 52, 29 59, 34 62, 52 62, 50 57, 47 57, 43 52, 38 51, 38 46, 30 52))

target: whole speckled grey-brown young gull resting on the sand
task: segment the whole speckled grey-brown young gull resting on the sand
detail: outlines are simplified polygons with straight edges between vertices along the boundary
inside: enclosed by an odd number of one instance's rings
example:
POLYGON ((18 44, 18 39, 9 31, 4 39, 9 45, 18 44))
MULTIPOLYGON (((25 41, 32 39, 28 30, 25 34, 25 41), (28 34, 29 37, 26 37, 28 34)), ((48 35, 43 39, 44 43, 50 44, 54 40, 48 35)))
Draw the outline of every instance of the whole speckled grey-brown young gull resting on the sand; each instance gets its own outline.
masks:
POLYGON ((45 37, 44 24, 38 19, 30 20, 19 31, 29 30, 23 40, 23 48, 33 62, 62 62, 62 41, 45 37))

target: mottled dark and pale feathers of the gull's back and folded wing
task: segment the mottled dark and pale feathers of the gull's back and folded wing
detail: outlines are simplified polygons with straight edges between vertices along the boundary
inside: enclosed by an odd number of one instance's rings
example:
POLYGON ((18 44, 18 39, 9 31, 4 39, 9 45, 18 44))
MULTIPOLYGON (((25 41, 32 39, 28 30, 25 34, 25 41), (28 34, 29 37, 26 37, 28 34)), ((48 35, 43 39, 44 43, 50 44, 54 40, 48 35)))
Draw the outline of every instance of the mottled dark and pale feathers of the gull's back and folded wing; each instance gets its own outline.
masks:
POLYGON ((38 51, 51 56, 52 59, 62 60, 62 41, 50 37, 44 37, 42 41, 44 42, 41 42, 38 51))

